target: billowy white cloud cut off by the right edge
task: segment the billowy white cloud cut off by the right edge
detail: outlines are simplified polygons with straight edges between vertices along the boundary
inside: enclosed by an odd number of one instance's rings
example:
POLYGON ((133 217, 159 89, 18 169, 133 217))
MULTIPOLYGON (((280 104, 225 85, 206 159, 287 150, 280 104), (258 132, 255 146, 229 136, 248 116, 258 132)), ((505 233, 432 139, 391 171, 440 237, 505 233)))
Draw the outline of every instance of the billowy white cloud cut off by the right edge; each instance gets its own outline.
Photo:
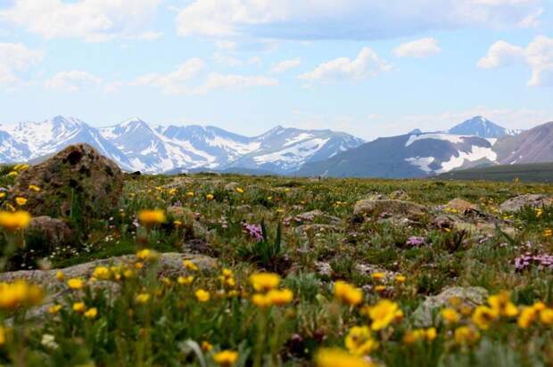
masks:
POLYGON ((525 48, 498 41, 477 65, 493 69, 515 64, 526 64, 532 69, 528 86, 553 86, 553 38, 535 37, 525 48))

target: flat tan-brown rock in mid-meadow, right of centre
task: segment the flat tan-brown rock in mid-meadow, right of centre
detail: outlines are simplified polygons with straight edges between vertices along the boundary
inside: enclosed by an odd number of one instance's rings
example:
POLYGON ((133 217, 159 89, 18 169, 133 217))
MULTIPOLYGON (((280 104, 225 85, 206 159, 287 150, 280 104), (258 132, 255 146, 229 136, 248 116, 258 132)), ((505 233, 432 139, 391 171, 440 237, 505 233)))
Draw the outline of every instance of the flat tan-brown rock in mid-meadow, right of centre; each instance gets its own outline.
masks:
POLYGON ((428 210, 422 205, 403 200, 359 200, 353 208, 356 216, 371 216, 385 218, 394 216, 408 218, 411 221, 421 221, 428 216, 428 210))

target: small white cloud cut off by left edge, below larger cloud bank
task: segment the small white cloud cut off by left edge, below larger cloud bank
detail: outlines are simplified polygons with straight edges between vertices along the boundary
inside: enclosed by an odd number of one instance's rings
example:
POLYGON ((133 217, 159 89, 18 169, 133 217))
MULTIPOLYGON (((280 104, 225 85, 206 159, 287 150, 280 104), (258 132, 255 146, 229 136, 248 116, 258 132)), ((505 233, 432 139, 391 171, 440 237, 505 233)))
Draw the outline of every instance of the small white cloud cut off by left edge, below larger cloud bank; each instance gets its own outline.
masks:
POLYGON ((42 61, 44 55, 23 44, 0 43, 0 86, 16 86, 21 83, 18 72, 42 61))

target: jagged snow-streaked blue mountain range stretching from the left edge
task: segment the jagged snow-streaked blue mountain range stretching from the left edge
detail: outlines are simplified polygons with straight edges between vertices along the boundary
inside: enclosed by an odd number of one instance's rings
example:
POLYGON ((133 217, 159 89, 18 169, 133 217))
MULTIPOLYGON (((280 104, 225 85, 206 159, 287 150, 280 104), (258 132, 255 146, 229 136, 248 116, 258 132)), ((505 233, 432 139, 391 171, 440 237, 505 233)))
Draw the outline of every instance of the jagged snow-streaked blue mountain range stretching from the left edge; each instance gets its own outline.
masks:
POLYGON ((278 126, 247 137, 214 126, 152 126, 131 118, 95 128, 77 118, 0 125, 0 162, 39 159, 73 143, 88 143, 121 168, 144 173, 210 168, 263 169, 278 174, 359 146, 361 139, 330 130, 278 126))

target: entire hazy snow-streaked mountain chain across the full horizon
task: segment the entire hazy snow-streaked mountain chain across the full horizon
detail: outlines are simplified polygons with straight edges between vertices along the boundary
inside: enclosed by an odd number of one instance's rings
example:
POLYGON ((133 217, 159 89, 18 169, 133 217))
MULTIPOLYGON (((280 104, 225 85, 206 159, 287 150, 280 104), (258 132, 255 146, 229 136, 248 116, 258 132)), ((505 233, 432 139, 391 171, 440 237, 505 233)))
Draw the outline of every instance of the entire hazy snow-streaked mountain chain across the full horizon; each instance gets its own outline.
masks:
POLYGON ((0 125, 0 162, 33 161, 89 143, 127 171, 424 177, 454 169, 553 161, 553 122, 521 132, 483 117, 445 132, 364 142, 330 130, 276 126, 248 137, 215 126, 151 126, 131 118, 95 128, 77 118, 0 125))

